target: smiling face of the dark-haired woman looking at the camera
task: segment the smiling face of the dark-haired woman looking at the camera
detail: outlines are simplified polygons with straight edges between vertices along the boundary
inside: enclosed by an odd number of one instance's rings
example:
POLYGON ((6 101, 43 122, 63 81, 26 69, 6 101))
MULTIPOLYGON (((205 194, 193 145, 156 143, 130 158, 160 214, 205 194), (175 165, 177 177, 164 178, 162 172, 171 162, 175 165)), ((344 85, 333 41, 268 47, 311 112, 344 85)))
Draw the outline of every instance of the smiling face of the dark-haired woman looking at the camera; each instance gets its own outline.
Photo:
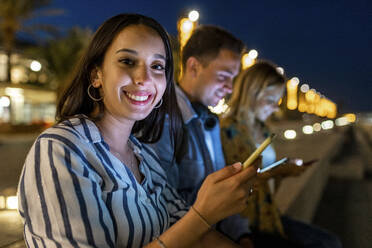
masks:
POLYGON ((160 36, 144 25, 125 27, 93 72, 101 88, 105 115, 135 122, 146 118, 166 88, 166 53, 160 36))

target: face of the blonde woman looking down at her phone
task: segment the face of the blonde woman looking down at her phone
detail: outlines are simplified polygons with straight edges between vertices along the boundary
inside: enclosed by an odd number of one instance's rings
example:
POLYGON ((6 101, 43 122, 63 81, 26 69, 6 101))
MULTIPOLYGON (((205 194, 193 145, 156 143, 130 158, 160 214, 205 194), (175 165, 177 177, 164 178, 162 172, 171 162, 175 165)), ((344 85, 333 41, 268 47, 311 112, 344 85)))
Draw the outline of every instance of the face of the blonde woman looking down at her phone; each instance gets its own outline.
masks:
POLYGON ((278 102, 284 93, 284 85, 272 85, 262 90, 257 97, 254 113, 257 119, 264 122, 279 109, 278 102))

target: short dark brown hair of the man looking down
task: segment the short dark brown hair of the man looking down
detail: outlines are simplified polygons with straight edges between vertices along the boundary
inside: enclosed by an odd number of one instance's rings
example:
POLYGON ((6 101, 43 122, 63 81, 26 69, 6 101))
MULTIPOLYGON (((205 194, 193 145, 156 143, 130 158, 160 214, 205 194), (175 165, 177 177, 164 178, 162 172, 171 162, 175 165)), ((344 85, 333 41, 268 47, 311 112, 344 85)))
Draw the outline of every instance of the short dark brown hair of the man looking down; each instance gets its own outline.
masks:
POLYGON ((221 49, 241 55, 244 43, 230 32, 212 25, 202 25, 195 29, 182 50, 182 67, 190 57, 197 58, 203 66, 215 59, 221 49))

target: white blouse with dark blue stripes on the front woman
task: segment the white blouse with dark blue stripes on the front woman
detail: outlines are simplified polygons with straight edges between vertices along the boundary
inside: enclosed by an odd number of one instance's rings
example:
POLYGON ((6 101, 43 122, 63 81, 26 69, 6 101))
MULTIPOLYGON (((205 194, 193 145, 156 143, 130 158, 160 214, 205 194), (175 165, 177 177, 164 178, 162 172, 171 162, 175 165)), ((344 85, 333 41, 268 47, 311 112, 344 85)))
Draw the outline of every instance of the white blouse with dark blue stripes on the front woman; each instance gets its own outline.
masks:
POLYGON ((84 116, 37 138, 18 186, 28 247, 142 247, 186 213, 151 148, 130 141, 142 183, 84 116))

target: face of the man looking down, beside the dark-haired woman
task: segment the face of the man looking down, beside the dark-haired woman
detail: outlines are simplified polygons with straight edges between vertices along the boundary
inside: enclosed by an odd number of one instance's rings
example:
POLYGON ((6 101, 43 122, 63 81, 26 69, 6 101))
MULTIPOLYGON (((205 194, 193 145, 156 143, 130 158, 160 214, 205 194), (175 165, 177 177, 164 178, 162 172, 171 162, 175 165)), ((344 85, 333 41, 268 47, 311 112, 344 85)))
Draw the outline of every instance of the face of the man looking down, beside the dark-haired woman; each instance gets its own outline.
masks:
POLYGON ((232 92, 234 77, 239 73, 240 55, 221 49, 218 56, 201 66, 195 89, 196 100, 205 106, 216 106, 232 92))

